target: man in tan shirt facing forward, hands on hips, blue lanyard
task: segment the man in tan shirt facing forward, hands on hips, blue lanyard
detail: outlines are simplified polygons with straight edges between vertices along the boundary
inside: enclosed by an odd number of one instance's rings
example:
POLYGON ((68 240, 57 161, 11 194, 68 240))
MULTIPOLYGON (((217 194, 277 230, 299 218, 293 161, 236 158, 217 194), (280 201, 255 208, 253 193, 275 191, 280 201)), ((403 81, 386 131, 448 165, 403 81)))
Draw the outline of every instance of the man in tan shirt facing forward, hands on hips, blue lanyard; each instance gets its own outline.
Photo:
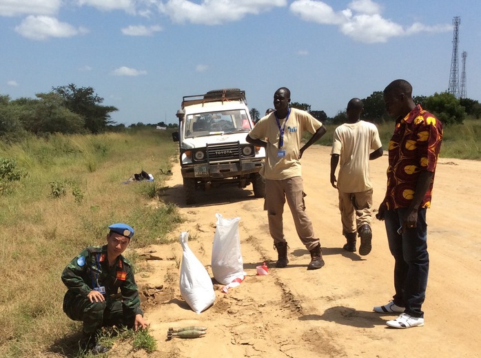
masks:
POLYGON ((278 252, 276 267, 287 266, 287 241, 283 233, 283 211, 287 200, 300 241, 311 253, 308 270, 324 266, 319 239, 314 236, 311 220, 305 212, 300 158, 303 152, 325 134, 316 118, 300 109, 289 108, 291 92, 285 87, 274 94, 274 112, 260 118, 247 135, 247 142, 265 147, 266 161, 260 174, 265 178, 265 209, 269 233, 278 252), (312 137, 300 147, 303 133, 312 137))

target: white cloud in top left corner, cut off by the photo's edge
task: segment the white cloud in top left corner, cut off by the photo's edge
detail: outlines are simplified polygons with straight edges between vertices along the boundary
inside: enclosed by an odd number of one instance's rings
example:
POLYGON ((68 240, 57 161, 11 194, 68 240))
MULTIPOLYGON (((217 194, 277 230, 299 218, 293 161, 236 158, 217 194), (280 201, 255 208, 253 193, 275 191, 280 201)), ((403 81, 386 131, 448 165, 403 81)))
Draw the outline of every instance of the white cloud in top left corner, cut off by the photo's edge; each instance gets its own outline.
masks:
POLYGON ((61 0, 0 0, 0 16, 54 15, 61 0))

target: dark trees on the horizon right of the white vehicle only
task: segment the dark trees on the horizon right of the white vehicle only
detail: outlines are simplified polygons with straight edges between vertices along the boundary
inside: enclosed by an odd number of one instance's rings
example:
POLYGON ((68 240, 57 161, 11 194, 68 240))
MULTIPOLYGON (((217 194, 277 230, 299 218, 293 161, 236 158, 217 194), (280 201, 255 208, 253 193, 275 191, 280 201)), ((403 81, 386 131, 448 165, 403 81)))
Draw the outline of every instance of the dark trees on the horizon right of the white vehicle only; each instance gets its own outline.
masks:
MULTIPOLYGON (((386 112, 382 91, 373 92, 367 98, 361 99, 364 103, 361 119, 373 123, 385 123, 395 119, 391 118, 386 112)), ((458 99, 452 94, 442 92, 432 96, 414 96, 413 100, 423 109, 437 116, 445 125, 462 123, 467 116, 475 119, 481 118, 481 104, 471 98, 458 99)), ((312 110, 311 105, 307 103, 291 102, 291 107, 303 109, 323 123, 339 125, 347 120, 345 110, 339 111, 336 116, 330 118, 324 111, 312 110)), ((252 108, 250 114, 254 122, 260 119, 257 109, 252 108)))

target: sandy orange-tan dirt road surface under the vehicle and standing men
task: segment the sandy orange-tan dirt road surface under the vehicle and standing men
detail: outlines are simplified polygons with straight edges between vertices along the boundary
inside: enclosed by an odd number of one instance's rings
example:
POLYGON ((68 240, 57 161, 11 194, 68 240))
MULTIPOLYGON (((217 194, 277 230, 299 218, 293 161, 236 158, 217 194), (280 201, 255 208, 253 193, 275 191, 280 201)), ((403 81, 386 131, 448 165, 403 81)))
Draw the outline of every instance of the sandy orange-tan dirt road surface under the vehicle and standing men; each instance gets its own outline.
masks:
MULTIPOLYGON (((321 240, 325 266, 307 271, 309 253, 300 243, 286 205, 289 265, 276 269, 276 251, 267 229, 263 199, 249 188, 201 192, 198 204, 183 204, 180 167, 167 181, 163 199, 180 207, 187 221, 172 233, 189 231, 190 249, 210 269, 215 213, 241 217, 239 233, 247 277, 227 294, 214 283, 216 302, 201 314, 185 303, 179 289, 181 244, 152 246, 144 272, 143 306, 158 341, 153 357, 481 357, 481 162, 440 159, 428 211, 431 258, 425 326, 388 328, 396 315, 373 313, 393 295, 393 258, 383 222, 373 220, 373 250, 367 256, 342 250, 337 191, 329 183, 329 148, 313 146, 303 159, 307 213, 321 240), (269 275, 256 266, 269 264, 269 275), (150 289, 158 286, 160 289, 150 289), (198 325, 207 335, 167 340, 167 329, 198 325)), ((374 207, 384 195, 387 156, 371 162, 374 207)), ((144 357, 143 352, 131 353, 144 357)))

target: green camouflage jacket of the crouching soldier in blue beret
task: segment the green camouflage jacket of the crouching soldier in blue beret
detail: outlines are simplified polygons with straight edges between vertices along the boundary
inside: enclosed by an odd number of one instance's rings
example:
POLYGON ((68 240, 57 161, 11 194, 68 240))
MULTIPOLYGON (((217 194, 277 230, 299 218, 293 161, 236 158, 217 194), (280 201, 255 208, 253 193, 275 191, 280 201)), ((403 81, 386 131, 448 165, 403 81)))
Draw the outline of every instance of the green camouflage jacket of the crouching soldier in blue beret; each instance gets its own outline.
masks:
POLYGON ((105 287, 103 296, 108 307, 121 297, 123 304, 132 309, 134 314, 143 315, 130 262, 120 255, 114 266, 110 267, 107 245, 83 249, 63 270, 62 281, 68 288, 65 293, 67 302, 76 295, 87 297, 95 287, 105 287))

